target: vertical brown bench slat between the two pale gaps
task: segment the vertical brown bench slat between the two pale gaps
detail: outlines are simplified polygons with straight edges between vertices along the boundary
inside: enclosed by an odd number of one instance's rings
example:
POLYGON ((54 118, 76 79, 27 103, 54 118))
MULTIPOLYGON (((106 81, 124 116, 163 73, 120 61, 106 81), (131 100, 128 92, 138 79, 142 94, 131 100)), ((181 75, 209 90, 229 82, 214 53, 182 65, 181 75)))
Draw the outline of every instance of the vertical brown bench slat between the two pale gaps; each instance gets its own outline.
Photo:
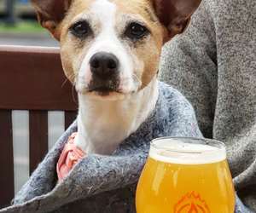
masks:
POLYGON ((38 167, 48 152, 48 112, 29 112, 29 171, 38 167))

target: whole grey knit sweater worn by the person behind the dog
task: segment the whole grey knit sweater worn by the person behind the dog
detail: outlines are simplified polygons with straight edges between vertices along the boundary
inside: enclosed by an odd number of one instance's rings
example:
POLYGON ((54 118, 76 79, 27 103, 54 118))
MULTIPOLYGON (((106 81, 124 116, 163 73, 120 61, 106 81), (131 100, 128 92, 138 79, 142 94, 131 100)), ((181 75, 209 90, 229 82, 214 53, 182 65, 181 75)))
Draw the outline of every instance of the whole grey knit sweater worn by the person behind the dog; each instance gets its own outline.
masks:
POLYGON ((203 1, 164 48, 160 73, 195 107, 203 134, 225 142, 237 193, 256 210, 256 1, 203 1))

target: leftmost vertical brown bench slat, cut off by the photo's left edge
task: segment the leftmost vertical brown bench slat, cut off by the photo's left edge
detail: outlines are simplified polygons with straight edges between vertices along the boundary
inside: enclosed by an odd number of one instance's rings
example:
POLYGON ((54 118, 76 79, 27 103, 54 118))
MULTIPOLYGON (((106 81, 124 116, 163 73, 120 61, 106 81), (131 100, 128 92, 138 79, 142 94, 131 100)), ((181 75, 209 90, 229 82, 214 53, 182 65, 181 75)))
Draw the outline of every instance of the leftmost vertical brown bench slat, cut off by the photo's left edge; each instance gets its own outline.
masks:
POLYGON ((15 196, 12 112, 0 110, 0 209, 15 196))

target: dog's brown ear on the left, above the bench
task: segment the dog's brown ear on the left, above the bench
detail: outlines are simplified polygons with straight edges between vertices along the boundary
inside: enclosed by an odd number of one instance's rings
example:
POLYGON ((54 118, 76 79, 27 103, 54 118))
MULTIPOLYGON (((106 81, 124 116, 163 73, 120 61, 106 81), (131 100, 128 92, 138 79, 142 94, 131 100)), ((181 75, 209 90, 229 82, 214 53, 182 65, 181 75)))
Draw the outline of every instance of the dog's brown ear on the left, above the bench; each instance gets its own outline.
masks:
POLYGON ((60 35, 56 32, 56 28, 65 17, 71 3, 72 0, 32 0, 39 23, 57 40, 60 39, 60 35))

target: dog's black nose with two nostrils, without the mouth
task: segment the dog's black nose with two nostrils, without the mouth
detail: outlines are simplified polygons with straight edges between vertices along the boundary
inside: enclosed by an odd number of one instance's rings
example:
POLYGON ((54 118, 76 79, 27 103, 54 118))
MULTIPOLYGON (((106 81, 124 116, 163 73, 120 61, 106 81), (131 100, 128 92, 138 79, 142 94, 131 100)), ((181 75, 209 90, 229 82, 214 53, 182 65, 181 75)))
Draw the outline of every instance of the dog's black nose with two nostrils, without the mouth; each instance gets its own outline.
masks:
POLYGON ((113 54, 99 52, 90 59, 90 71, 98 78, 113 78, 118 70, 119 60, 113 54))

